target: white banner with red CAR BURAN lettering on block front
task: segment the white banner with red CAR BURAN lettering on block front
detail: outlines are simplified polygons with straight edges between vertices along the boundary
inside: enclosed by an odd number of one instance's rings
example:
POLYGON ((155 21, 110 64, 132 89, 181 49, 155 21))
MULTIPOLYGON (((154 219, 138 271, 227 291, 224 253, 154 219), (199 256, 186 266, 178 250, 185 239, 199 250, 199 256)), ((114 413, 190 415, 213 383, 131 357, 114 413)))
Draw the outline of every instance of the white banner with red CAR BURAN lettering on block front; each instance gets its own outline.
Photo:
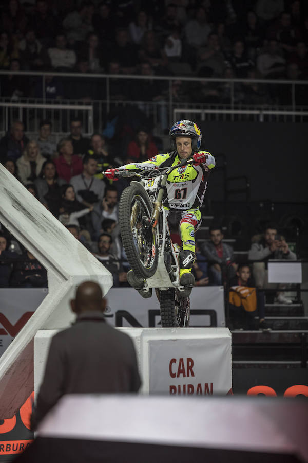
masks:
MULTIPOLYGON (((228 331, 228 330, 227 330, 228 331)), ((149 392, 170 395, 228 394, 231 382, 229 336, 149 340, 149 392)))

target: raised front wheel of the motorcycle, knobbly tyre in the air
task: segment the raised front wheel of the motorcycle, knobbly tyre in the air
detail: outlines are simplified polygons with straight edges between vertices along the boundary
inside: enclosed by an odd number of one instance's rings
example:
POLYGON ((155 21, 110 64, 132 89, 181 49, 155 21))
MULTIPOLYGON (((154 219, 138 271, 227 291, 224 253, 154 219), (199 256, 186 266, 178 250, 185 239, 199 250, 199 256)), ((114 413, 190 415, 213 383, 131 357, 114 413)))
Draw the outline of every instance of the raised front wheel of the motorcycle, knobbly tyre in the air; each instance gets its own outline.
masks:
POLYGON ((127 260, 139 278, 151 277, 158 262, 157 233, 149 223, 152 203, 139 183, 127 187, 120 199, 120 231, 127 260))

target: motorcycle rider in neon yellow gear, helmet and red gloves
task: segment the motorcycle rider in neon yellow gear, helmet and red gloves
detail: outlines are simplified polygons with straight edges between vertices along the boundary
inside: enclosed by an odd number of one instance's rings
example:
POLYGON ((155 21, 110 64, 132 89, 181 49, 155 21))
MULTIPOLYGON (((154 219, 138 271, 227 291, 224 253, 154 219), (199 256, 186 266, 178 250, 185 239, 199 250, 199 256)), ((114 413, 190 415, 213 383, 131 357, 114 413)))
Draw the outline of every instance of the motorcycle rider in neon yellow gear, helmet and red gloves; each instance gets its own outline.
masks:
MULTIPOLYGON (((195 231, 201 225, 200 207, 207 187, 210 169, 215 167, 215 158, 207 151, 199 151, 202 134, 197 124, 191 120, 180 120, 170 129, 171 151, 157 154, 143 163, 131 163, 108 169, 106 177, 115 179, 114 173, 128 169, 140 171, 145 168, 171 167, 179 164, 182 159, 193 158, 191 164, 179 166, 169 173, 163 207, 166 210, 169 225, 178 224, 182 241, 179 255, 180 282, 184 286, 183 297, 188 297, 194 286, 195 278, 191 273, 195 261, 195 231)), ((131 286, 139 290, 143 297, 150 297, 150 292, 141 290, 143 281, 134 276, 130 270, 127 279, 131 286)))

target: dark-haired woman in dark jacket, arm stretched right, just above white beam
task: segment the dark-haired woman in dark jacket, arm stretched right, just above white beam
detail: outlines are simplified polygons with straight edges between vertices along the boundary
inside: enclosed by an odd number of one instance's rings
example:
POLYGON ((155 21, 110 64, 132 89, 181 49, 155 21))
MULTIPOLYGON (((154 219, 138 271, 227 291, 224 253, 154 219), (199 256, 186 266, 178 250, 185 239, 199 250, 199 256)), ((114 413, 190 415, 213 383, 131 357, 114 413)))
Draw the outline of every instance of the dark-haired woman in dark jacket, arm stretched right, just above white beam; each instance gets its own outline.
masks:
POLYGON ((63 225, 80 226, 79 219, 86 216, 93 210, 93 206, 85 207, 84 204, 76 200, 74 187, 70 184, 62 186, 62 201, 60 207, 59 221, 63 225))

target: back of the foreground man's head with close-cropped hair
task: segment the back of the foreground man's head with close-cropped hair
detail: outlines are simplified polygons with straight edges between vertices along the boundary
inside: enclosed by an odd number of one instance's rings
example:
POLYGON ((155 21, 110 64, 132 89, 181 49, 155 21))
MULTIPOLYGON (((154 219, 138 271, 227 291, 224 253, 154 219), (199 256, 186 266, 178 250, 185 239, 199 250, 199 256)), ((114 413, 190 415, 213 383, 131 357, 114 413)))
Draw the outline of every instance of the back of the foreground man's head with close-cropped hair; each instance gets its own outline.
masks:
POLYGON ((90 311, 104 312, 106 301, 98 283, 85 281, 76 290, 75 299, 71 300, 72 311, 81 314, 90 311))

